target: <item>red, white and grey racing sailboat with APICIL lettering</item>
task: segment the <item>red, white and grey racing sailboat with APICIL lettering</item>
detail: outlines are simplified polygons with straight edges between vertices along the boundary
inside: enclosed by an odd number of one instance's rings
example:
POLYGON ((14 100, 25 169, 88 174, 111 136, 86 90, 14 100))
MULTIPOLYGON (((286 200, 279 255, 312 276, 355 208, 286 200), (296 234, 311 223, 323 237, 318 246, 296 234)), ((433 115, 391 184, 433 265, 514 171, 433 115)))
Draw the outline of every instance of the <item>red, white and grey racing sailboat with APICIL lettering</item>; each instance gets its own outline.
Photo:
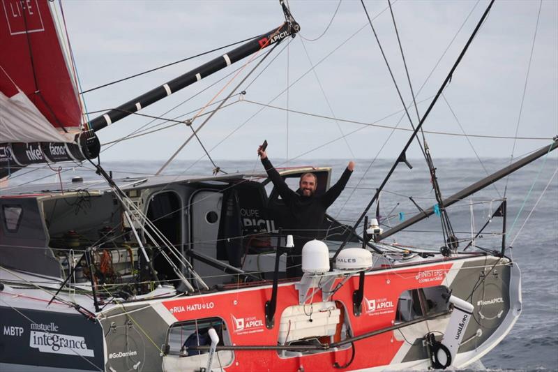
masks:
MULTIPOLYGON (((10 53, 0 59, 1 175, 72 161, 92 166, 103 183, 60 177, 1 192, 0 369, 462 368, 495 348, 518 320, 521 274, 506 255, 506 200, 490 216, 502 221, 502 243, 492 249, 460 249, 446 208, 547 156, 558 147, 556 138, 448 198, 426 148, 437 203, 386 228, 379 212, 368 213, 374 205, 379 211, 395 168, 410 167, 406 151, 434 98, 354 225, 328 216, 324 239, 303 248, 303 276, 289 278, 292 232, 283 232, 284 205, 266 188, 265 172, 225 174, 216 167, 209 176, 118 179, 96 161, 98 131, 235 63, 259 66, 296 36, 301 25, 287 2, 280 1, 285 21, 278 26, 92 119, 82 115, 56 4, 2 5, 0 41, 10 53), (387 242, 429 216, 442 221, 439 251, 387 242)), ((195 129, 183 121, 191 138, 204 120, 195 129)), ((315 173, 317 193, 331 178, 328 167, 279 172, 285 179, 315 173)))

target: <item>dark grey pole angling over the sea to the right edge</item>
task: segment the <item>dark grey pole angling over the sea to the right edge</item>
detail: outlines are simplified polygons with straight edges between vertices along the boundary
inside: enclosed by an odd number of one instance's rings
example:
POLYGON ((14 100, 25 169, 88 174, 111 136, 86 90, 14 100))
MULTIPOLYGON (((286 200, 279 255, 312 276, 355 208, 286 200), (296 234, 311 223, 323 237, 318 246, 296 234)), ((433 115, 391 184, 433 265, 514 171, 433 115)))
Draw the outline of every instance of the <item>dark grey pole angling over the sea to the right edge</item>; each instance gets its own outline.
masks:
MULTIPOLYGON (((522 158, 520 161, 516 161, 511 165, 508 165, 506 168, 502 168, 501 170, 493 174, 490 174, 490 176, 485 177, 480 181, 476 181, 474 184, 467 186, 462 191, 459 191, 458 193, 451 195, 449 198, 442 200, 442 204, 444 204, 444 207, 449 207, 451 204, 455 204, 456 202, 464 198, 467 198, 467 196, 472 195, 479 190, 482 190, 486 186, 490 186, 490 184, 493 184, 499 179, 506 177, 508 174, 515 172, 516 170, 524 167, 525 165, 531 163, 532 161, 536 161, 536 159, 550 153, 550 151, 555 150, 557 147, 558 147, 558 136, 554 138, 554 142, 552 142, 552 144, 549 144, 548 146, 538 149, 533 154, 526 156, 525 158, 522 158)), ((424 218, 428 218, 429 216, 432 216, 432 214, 434 214, 433 207, 430 207, 429 209, 425 209, 424 211, 421 211, 421 213, 416 214, 412 218, 409 218, 407 221, 402 222, 399 225, 395 226, 394 228, 385 231, 383 234, 378 235, 378 241, 382 239, 386 239, 386 237, 395 234, 395 232, 399 232, 405 228, 408 228, 409 226, 414 225, 419 221, 422 221, 424 218)))

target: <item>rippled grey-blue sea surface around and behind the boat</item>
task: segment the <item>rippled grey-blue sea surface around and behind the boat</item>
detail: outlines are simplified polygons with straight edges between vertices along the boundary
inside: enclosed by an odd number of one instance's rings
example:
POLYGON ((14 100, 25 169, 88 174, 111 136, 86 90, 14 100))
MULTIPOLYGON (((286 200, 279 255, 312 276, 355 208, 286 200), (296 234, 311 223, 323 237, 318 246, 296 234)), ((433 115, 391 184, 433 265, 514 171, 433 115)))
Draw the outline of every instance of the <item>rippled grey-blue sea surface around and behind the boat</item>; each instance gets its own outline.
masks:
MULTIPOLYGON (((289 163, 284 159, 272 161, 276 167, 331 166, 332 183, 338 179, 348 162, 339 159, 306 159, 296 163, 289 163)), ((447 198, 487 174, 504 168, 509 162, 508 158, 487 158, 482 161, 476 158, 435 159, 442 195, 447 198)), ((114 177, 137 177, 140 174, 155 173, 162 163, 163 161, 107 161, 103 163, 103 167, 107 171, 112 170, 114 177)), ((262 165, 257 159, 215 163, 229 173, 262 170, 262 165)), ((419 213, 409 197, 423 209, 436 203, 425 161, 413 159, 410 163, 413 165, 412 170, 405 164, 398 165, 381 194, 380 215, 382 223, 386 225, 397 225, 400 221, 419 213)), ((329 214, 345 223, 359 218, 392 164, 393 162, 388 160, 377 160, 374 163, 366 159, 356 160, 356 170, 345 191, 329 209, 329 214)), ((213 168, 207 161, 174 161, 165 173, 208 176, 213 168)), ((556 154, 550 154, 518 170, 508 179, 497 181, 467 200, 448 207, 448 216, 456 235, 460 239, 469 239, 472 237, 472 230, 477 232, 488 221, 505 196, 508 207, 506 255, 518 262, 522 270, 523 310, 518 322, 504 341, 485 355, 481 362, 473 364, 468 371, 558 371, 557 168, 558 158, 556 154)), ((98 179, 90 165, 87 168, 64 168, 60 177, 68 180, 77 175, 84 179, 98 179)), ((48 168, 27 168, 15 173, 7 184, 0 186, 0 193, 17 191, 18 185, 27 184, 33 179, 42 178, 38 183, 59 182, 57 177, 56 173, 48 168)), ((368 216, 375 216, 375 208, 376 204, 373 204, 368 216)), ((439 217, 431 216, 410 227, 406 232, 392 235, 387 240, 437 250, 444 242, 439 231, 439 217)), ((500 250, 502 218, 492 218, 475 243, 483 248, 500 250)), ((461 244, 464 246, 467 242, 461 244)))

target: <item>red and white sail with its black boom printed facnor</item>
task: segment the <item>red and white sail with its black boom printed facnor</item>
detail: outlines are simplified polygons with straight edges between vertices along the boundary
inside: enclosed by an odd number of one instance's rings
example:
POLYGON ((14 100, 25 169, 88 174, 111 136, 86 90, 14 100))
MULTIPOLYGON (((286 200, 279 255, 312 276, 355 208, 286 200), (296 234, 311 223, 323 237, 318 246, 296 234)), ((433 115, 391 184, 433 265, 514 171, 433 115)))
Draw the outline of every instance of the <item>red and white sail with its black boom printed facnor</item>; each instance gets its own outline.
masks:
POLYGON ((0 5, 0 177, 31 163, 84 160, 94 156, 85 140, 98 144, 82 131, 66 38, 53 15, 47 0, 0 5))

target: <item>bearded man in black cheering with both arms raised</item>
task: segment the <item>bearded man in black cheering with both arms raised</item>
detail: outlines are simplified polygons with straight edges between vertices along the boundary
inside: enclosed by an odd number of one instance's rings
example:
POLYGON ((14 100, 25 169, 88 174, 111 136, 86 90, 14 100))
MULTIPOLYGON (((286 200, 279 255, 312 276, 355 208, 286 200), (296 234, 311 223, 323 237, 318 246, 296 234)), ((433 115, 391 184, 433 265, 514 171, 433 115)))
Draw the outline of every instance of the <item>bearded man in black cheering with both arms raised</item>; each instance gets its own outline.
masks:
POLYGON ((258 147, 257 154, 262 160, 269 179, 273 182, 289 211, 290 218, 287 218, 285 226, 282 226, 282 228, 292 230, 294 236, 292 254, 287 255, 287 277, 302 276, 302 247, 307 241, 317 237, 319 229, 322 228, 326 210, 335 202, 351 177, 354 161, 349 162, 345 172, 335 185, 331 186, 323 195, 317 196, 315 195, 317 177, 314 173, 303 174, 299 181, 299 190, 295 192, 287 186, 285 180, 273 168, 262 146, 258 147))

